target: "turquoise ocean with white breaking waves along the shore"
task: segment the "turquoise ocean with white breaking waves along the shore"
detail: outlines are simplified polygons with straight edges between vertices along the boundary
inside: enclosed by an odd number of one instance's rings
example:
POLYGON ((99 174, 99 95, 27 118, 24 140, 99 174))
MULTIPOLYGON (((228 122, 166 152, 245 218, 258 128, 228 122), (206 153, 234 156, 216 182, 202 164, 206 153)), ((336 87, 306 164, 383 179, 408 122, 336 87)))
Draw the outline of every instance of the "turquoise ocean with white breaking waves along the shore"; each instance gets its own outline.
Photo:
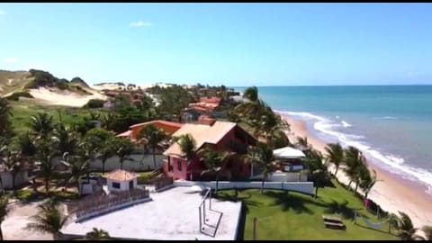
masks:
POLYGON ((276 112, 305 121, 316 137, 359 148, 368 162, 424 184, 432 194, 432 85, 266 86, 258 91, 276 112))

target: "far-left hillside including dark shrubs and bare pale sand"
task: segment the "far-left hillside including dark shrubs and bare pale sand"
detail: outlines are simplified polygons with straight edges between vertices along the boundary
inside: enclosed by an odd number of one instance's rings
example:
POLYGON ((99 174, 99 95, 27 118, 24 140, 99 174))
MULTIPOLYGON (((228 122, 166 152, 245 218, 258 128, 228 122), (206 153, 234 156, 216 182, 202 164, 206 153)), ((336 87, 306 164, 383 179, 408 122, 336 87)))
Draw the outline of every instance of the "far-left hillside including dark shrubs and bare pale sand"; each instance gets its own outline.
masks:
POLYGON ((49 72, 30 69, 29 71, 0 70, 0 95, 12 100, 32 99, 44 104, 82 106, 90 99, 105 100, 80 77, 70 82, 49 72))

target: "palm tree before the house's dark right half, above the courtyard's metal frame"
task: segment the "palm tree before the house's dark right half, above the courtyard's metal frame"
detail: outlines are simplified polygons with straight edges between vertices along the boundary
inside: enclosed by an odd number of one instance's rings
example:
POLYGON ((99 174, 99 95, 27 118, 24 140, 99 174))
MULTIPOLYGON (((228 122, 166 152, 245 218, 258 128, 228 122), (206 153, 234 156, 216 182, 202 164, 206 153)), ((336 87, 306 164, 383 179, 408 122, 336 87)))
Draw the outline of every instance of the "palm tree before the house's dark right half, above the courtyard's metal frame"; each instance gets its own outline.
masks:
POLYGON ((202 171, 201 175, 205 174, 215 174, 216 175, 216 190, 215 193, 218 193, 218 185, 219 185, 219 176, 220 170, 222 169, 223 163, 229 156, 229 153, 221 153, 213 148, 205 147, 198 151, 198 155, 202 157, 202 162, 205 166, 205 170, 202 171))

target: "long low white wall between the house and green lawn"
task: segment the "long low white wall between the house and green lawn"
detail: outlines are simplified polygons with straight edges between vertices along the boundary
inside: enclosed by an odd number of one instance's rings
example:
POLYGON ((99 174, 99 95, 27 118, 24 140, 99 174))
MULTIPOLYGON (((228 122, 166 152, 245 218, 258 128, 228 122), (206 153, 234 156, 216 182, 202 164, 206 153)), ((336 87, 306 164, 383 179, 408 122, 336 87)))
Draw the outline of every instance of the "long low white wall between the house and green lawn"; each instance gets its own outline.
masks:
MULTIPOLYGON (((193 181, 175 181, 175 186, 193 186, 201 185, 204 187, 216 188, 216 182, 193 182, 193 181)), ((218 189, 233 189, 233 188, 257 188, 260 189, 262 182, 227 182, 220 181, 218 189)), ((265 189, 280 189, 286 191, 295 191, 300 193, 314 194, 312 182, 265 182, 265 189)))

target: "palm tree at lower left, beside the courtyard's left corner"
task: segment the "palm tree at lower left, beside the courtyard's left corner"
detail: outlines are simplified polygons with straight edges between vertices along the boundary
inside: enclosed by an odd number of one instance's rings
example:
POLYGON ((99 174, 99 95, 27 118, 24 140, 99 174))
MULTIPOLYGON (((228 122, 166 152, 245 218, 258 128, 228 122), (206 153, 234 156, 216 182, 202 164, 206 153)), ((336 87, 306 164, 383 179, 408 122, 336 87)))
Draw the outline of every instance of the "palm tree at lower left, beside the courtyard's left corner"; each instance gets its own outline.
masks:
POLYGON ((26 228, 51 233, 54 239, 61 238, 60 229, 65 225, 68 216, 63 215, 56 203, 43 203, 38 208, 40 212, 31 217, 33 222, 28 223, 26 228))

